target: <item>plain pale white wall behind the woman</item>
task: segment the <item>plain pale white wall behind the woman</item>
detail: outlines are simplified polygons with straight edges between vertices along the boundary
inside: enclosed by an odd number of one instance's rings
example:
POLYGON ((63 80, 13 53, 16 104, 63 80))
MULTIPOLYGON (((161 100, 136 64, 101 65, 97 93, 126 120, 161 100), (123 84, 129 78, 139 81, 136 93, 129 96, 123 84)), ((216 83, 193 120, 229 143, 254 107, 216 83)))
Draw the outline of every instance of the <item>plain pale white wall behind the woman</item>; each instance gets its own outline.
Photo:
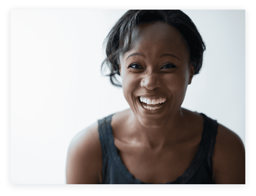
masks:
MULTIPOLYGON (((102 44, 127 10, 11 10, 11 184, 65 184, 72 137, 129 107, 100 74, 102 44)), ((183 10, 207 50, 182 107, 245 144, 245 10, 183 10)))

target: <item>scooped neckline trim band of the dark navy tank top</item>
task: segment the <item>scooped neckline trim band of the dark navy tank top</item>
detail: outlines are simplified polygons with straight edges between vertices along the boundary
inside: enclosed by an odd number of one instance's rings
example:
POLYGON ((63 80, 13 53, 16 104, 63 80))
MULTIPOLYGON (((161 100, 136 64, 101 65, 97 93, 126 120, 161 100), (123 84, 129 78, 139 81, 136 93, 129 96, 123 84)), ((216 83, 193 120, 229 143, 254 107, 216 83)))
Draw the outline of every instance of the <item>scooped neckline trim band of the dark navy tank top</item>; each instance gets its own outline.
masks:
MULTIPOLYGON (((203 123, 203 132, 202 132, 202 138, 201 141, 199 143, 199 149, 197 150, 197 153, 195 154, 193 160, 190 162, 189 167, 184 171, 184 173, 179 176, 176 180, 172 181, 172 182, 167 182, 165 184, 179 184, 180 181, 182 181, 184 178, 186 178, 186 176, 193 176, 197 170, 199 169, 200 165, 202 165, 202 161, 198 161, 201 159, 204 159, 206 156, 207 152, 204 152, 204 147, 205 147, 205 143, 203 142, 203 138, 205 136, 205 129, 206 127, 206 121, 207 118, 203 113, 200 113, 203 118, 204 118, 204 123, 203 123)), ((122 171, 122 173, 126 176, 126 178, 131 181, 131 182, 135 182, 136 184, 151 184, 151 183, 145 183, 142 182, 138 179, 136 179, 126 168, 126 166, 122 163, 122 160, 118 154, 118 149, 115 146, 114 143, 114 136, 113 136, 113 129, 111 126, 111 121, 112 121, 112 117, 114 114, 110 115, 110 121, 108 121, 109 123, 109 127, 110 127, 110 134, 109 134, 109 145, 110 145, 110 152, 111 152, 111 156, 113 158, 113 160, 115 161, 115 164, 117 165, 117 167, 119 168, 120 171, 122 171)), ((160 183, 161 184, 161 183, 160 183)))

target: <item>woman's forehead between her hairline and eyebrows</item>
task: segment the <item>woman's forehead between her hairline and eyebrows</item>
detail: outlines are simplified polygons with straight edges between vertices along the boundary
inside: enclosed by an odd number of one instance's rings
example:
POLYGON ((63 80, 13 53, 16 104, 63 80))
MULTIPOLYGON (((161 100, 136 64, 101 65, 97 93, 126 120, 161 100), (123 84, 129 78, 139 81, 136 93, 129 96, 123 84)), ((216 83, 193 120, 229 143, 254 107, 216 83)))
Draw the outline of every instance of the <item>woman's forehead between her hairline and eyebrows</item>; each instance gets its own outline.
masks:
POLYGON ((174 27, 162 22, 143 23, 132 31, 131 46, 122 56, 131 51, 146 52, 148 55, 158 55, 162 52, 187 55, 186 41, 174 27))

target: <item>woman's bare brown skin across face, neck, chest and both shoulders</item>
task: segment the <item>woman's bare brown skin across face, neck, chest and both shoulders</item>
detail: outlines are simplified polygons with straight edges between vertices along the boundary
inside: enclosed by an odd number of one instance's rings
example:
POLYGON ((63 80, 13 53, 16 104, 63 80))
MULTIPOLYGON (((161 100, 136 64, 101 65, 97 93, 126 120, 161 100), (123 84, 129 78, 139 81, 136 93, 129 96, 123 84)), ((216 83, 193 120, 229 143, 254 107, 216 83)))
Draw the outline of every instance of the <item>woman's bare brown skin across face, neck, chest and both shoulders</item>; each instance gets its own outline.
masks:
MULTIPOLYGON (((203 117, 181 107, 194 68, 182 36, 157 22, 138 26, 132 47, 120 56, 123 92, 130 108, 112 117, 114 141, 129 172, 145 183, 174 181, 189 167, 198 150, 203 117), (140 53, 141 55, 132 55, 140 53), (161 54, 172 54, 177 58, 161 54), (129 65, 134 68, 129 68, 129 65), (168 66, 166 66, 168 65, 168 66), (173 66, 175 65, 175 66, 173 66), (143 111, 138 96, 168 97, 161 112, 143 111)), ((67 184, 100 184, 102 152, 97 123, 70 143, 67 184)), ((245 184, 245 150, 241 139, 219 125, 213 154, 216 184, 245 184)))

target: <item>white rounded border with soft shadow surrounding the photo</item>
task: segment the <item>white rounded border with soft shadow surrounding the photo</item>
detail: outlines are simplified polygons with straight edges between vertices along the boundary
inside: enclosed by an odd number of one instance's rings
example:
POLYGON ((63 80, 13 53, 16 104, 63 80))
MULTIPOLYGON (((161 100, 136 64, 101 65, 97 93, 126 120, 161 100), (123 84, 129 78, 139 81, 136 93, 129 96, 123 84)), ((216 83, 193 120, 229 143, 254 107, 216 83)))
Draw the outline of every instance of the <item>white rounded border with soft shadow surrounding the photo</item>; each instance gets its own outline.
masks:
POLYGON ((12 5, 5 13, 5 183, 13 191, 242 191, 251 184, 251 12, 243 5, 12 5), (11 10, 190 9, 245 10, 245 185, 28 185, 11 183, 11 10))

